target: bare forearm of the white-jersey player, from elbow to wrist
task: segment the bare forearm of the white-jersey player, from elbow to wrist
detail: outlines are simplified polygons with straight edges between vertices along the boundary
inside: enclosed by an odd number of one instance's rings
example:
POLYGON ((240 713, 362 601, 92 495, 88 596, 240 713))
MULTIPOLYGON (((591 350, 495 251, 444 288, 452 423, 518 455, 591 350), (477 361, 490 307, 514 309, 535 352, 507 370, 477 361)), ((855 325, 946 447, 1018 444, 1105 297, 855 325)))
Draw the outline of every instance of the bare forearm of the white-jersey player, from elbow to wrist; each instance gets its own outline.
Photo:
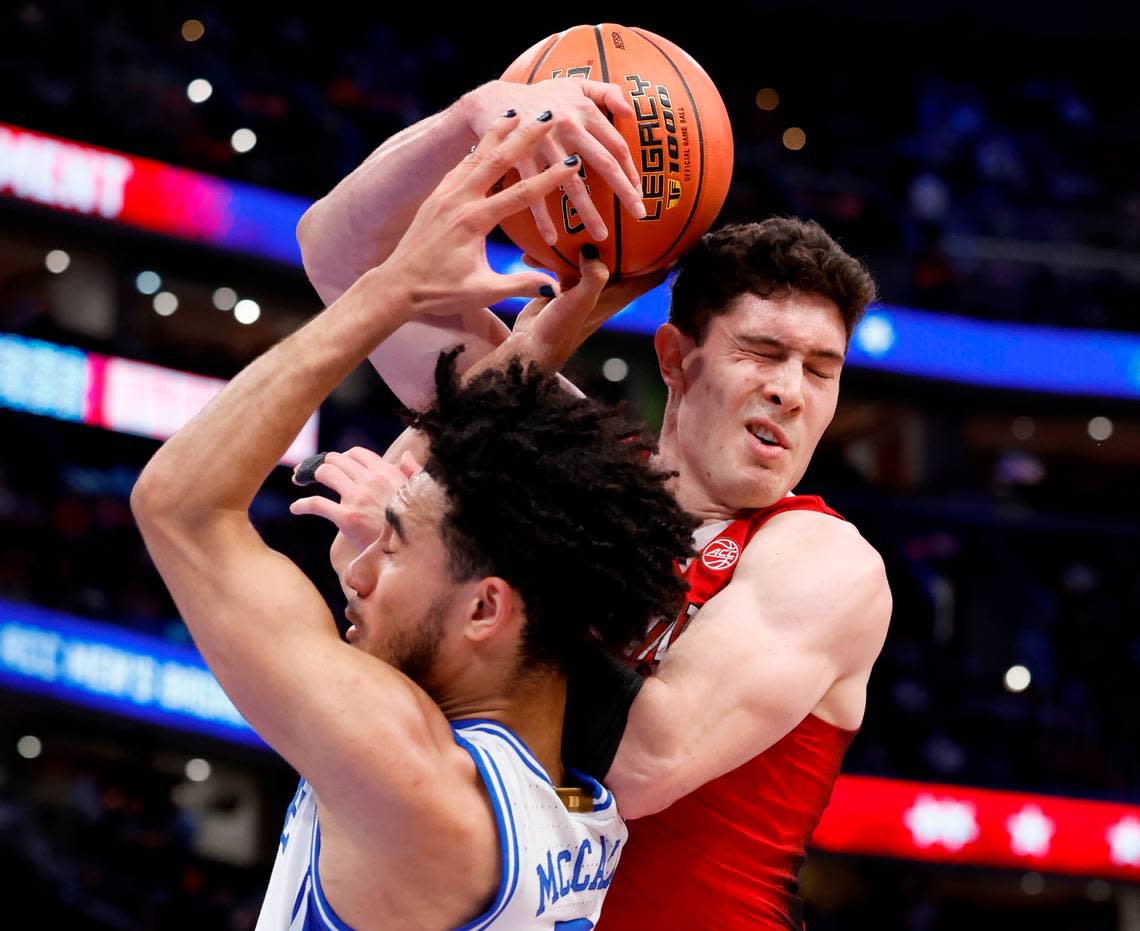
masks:
POLYGON ((406 319, 409 302, 394 279, 384 286, 389 279, 388 269, 369 272, 247 366, 155 454, 139 477, 137 507, 149 501, 152 516, 180 522, 246 511, 312 411, 406 319))

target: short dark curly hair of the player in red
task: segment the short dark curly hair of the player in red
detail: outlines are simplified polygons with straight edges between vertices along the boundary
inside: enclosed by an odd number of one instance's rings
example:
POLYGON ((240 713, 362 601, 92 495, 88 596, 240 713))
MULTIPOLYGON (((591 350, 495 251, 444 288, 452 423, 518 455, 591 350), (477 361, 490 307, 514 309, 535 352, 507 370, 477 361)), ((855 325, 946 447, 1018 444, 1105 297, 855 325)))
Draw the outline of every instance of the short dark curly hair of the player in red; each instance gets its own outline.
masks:
POLYGON ((850 340, 876 288, 866 267, 814 220, 771 217, 762 223, 731 223, 701 237, 681 260, 669 322, 700 343, 709 320, 741 294, 768 297, 789 291, 834 301, 850 340))

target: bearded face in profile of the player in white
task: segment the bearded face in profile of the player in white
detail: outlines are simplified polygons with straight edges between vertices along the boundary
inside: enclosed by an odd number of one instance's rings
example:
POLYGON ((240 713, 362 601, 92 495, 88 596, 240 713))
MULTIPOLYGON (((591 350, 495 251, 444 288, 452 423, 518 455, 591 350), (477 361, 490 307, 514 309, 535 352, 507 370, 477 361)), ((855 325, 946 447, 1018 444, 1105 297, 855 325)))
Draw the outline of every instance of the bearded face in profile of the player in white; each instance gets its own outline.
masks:
POLYGON ((350 564, 345 635, 431 692, 440 647, 461 598, 440 536, 447 499, 426 473, 392 499, 378 538, 350 564))

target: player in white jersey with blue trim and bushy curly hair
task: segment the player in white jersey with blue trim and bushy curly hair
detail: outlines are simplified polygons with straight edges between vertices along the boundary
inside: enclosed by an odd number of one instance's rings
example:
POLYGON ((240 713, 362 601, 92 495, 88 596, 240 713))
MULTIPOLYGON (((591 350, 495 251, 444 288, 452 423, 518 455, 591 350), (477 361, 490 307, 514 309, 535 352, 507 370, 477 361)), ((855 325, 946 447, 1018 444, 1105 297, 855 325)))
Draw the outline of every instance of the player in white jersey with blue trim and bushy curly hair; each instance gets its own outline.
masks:
MULTIPOLYGON (((620 860, 609 793, 563 766, 561 743, 565 669, 587 631, 627 642, 682 594, 671 562, 693 522, 649 466, 641 425, 518 359, 461 385, 441 358, 437 400, 413 420, 424 469, 344 571, 347 642, 249 518, 312 411, 398 327, 554 293, 487 266, 487 232, 577 166, 488 196, 549 131, 519 123, 497 121, 388 260, 230 382, 131 496, 210 668, 302 776, 262 931, 586 929, 620 860)), ((588 312, 598 264, 549 307, 588 312)), ((333 456, 319 479, 335 488, 353 468, 333 456)))

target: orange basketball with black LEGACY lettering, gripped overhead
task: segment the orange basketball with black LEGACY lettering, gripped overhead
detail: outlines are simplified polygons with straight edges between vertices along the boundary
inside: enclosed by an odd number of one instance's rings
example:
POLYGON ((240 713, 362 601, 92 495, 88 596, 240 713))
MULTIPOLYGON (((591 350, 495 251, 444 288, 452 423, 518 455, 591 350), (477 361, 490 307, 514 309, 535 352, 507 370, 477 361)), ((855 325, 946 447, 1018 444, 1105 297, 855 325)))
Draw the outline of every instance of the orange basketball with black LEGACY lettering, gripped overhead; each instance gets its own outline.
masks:
MULTIPOLYGON (((712 224, 732 180, 732 128, 705 70, 677 46, 642 28, 603 23, 575 26, 528 49, 503 80, 534 84, 551 77, 606 81, 622 88, 635 117, 613 125, 641 174, 646 215, 635 220, 610 187, 584 164, 591 199, 610 230, 597 243, 610 271, 643 275, 687 252, 712 224)), ((512 172, 506 181, 518 180, 512 172)), ((529 211, 500 224, 515 245, 556 271, 577 270, 594 239, 562 190, 547 195, 559 240, 546 244, 529 211)))

